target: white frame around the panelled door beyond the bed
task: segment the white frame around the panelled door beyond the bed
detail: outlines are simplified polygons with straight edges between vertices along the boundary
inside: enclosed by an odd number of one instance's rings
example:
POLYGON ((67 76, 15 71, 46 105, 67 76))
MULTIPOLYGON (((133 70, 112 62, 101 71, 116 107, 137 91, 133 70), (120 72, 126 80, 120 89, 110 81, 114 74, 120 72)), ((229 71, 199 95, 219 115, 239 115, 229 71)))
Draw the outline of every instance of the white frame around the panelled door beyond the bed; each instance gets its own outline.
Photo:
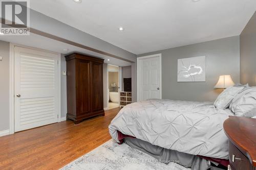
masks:
POLYGON ((159 94, 159 97, 160 99, 162 99, 162 54, 153 54, 153 55, 149 55, 149 56, 142 56, 142 57, 137 57, 137 101, 140 101, 140 91, 141 91, 141 84, 140 84, 140 81, 141 78, 140 78, 140 75, 141 75, 141 71, 139 69, 139 64, 140 64, 140 61, 141 60, 144 60, 144 59, 148 59, 148 58, 153 58, 153 57, 158 57, 159 58, 159 65, 160 65, 160 68, 159 68, 159 74, 160 74, 160 78, 159 78, 159 87, 160 87, 160 94, 159 94))

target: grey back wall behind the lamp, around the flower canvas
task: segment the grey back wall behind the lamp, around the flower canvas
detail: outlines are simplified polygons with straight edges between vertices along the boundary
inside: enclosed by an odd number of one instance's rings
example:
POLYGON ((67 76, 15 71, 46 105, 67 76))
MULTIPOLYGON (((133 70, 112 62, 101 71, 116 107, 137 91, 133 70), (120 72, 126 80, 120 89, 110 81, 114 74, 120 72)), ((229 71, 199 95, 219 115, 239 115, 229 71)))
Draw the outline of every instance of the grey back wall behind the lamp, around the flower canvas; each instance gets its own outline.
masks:
POLYGON ((162 98, 187 101, 215 101, 221 89, 214 89, 220 75, 240 81, 239 36, 207 41, 138 55, 162 54, 162 98), (206 56, 206 82, 177 82, 177 60, 206 56))

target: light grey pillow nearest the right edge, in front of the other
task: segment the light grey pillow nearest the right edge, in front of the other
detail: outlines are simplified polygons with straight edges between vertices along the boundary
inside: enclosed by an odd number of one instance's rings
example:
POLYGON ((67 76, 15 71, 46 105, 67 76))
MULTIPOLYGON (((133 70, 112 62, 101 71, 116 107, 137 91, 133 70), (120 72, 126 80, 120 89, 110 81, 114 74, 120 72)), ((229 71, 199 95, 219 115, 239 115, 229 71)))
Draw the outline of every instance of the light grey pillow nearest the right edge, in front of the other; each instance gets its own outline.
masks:
POLYGON ((246 88, 235 96, 230 110, 236 116, 256 116, 256 87, 246 88))

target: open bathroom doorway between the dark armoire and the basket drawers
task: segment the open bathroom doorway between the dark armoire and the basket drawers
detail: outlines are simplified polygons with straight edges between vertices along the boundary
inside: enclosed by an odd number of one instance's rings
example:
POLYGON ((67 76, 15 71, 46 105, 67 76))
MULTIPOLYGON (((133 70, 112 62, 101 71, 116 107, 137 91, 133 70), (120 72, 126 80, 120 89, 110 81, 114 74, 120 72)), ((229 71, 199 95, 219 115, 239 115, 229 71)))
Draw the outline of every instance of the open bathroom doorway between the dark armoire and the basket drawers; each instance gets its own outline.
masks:
POLYGON ((119 98, 119 89, 120 89, 120 83, 119 83, 119 66, 115 65, 108 65, 108 79, 109 79, 109 103, 108 103, 108 109, 113 109, 119 107, 120 98, 119 98))

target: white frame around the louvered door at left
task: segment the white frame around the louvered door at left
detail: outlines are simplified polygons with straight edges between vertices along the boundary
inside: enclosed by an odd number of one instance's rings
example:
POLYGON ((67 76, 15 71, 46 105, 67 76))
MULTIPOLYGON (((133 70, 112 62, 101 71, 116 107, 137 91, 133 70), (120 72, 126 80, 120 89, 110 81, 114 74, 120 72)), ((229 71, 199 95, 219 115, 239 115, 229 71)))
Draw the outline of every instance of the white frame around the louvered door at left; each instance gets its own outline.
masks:
POLYGON ((9 106, 9 120, 10 120, 10 123, 9 123, 9 133, 10 134, 13 134, 14 133, 14 130, 15 130, 15 123, 14 123, 14 120, 15 120, 15 113, 14 113, 14 110, 15 110, 15 103, 14 103, 14 91, 15 91, 15 86, 14 86, 14 83, 15 83, 15 80, 14 80, 14 73, 15 73, 15 70, 14 70, 14 66, 15 66, 15 52, 14 52, 14 47, 15 46, 19 46, 19 47, 23 47, 23 48, 29 48, 31 50, 37 50, 37 51, 42 51, 42 52, 47 52, 47 53, 53 53, 53 54, 57 54, 58 55, 58 60, 57 60, 57 65, 58 65, 58 122, 60 122, 60 119, 61 119, 61 54, 60 53, 56 53, 56 52, 52 52, 52 51, 48 51, 48 50, 42 50, 40 48, 35 48, 35 47, 30 47, 30 46, 26 46, 26 45, 20 45, 20 44, 16 44, 16 43, 10 43, 10 59, 9 59, 9 103, 10 103, 10 106, 9 106))

